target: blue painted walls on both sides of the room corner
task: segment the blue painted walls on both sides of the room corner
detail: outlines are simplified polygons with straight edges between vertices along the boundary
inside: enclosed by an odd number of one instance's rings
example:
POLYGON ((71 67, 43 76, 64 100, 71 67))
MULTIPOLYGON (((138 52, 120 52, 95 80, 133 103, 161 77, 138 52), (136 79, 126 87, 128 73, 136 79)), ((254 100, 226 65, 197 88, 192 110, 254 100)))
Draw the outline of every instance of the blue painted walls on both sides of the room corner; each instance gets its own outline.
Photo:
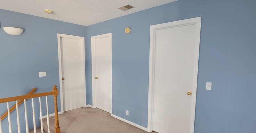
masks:
MULTIPOLYGON (((92 105, 91 36, 111 32, 113 114, 147 127, 150 25, 201 16, 195 133, 255 132, 255 7, 253 0, 179 0, 87 28, 0 9, 0 98, 23 95, 34 87, 40 93, 59 86, 57 33, 62 33, 87 37, 86 94, 87 104, 92 105), (2 28, 7 26, 24 28, 25 32, 8 35, 2 28), (132 32, 125 34, 125 27, 132 32), (38 77, 42 71, 47 77, 38 77), (206 82, 212 82, 212 91, 205 90, 206 82)), ((37 99, 35 103, 38 118, 37 99)), ((58 107, 60 110, 60 104, 58 107)), ((28 100, 30 129, 31 108, 28 100)), ((23 110, 22 104, 20 114, 23 110)), ((0 114, 5 111, 6 105, 0 104, 0 114)), ((43 115, 45 112, 43 109, 43 115)), ((13 132, 17 132, 15 111, 11 117, 13 132)), ((20 121, 24 131, 23 115, 20 121)), ((8 132, 7 119, 2 126, 8 132)))

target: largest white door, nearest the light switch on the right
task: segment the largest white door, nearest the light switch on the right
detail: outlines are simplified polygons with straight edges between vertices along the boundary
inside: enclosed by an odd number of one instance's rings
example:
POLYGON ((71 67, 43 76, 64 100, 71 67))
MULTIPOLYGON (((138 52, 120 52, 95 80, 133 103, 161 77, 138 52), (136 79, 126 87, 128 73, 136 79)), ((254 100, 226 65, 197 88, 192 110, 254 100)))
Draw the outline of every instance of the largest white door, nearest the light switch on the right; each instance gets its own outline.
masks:
MULTIPOLYGON (((198 68, 196 32, 197 24, 166 27, 155 32, 153 130, 158 133, 190 132, 198 68)), ((194 119, 192 121, 194 123, 194 119)))

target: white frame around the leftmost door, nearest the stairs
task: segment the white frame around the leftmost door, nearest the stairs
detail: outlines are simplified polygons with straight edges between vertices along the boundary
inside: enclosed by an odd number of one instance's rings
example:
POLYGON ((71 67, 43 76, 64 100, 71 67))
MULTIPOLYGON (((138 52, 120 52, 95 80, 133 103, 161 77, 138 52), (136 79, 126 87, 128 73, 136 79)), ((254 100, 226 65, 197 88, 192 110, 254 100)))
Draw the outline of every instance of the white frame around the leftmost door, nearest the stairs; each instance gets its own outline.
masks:
POLYGON ((62 88, 62 62, 61 62, 61 47, 60 47, 60 38, 69 38, 69 39, 79 39, 82 44, 82 99, 83 99, 83 107, 86 107, 86 91, 85 91, 85 49, 84 49, 84 37, 65 35, 65 34, 57 34, 58 36, 58 56, 59 56, 59 74, 60 74, 60 105, 61 105, 61 113, 64 112, 63 106, 63 88, 62 88))

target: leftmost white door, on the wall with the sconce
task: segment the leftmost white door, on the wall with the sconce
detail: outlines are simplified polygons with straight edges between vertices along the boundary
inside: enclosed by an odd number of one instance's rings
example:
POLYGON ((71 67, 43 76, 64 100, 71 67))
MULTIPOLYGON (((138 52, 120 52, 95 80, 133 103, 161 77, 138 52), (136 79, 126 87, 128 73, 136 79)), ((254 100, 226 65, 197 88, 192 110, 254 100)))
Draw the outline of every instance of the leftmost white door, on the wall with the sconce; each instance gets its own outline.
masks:
POLYGON ((81 39, 60 37, 64 111, 83 107, 85 97, 84 44, 81 39), (83 70, 84 69, 84 70, 83 70))

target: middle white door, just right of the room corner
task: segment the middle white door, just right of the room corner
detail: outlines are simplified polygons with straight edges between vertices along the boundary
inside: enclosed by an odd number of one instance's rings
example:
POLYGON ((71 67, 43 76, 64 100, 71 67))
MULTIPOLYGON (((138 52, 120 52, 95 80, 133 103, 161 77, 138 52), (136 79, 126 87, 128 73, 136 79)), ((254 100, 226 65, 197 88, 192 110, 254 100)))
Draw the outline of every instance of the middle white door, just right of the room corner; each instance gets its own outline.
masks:
POLYGON ((112 113, 112 38, 111 33, 92 37, 92 80, 95 108, 112 113), (96 77, 96 78, 95 78, 96 77))

